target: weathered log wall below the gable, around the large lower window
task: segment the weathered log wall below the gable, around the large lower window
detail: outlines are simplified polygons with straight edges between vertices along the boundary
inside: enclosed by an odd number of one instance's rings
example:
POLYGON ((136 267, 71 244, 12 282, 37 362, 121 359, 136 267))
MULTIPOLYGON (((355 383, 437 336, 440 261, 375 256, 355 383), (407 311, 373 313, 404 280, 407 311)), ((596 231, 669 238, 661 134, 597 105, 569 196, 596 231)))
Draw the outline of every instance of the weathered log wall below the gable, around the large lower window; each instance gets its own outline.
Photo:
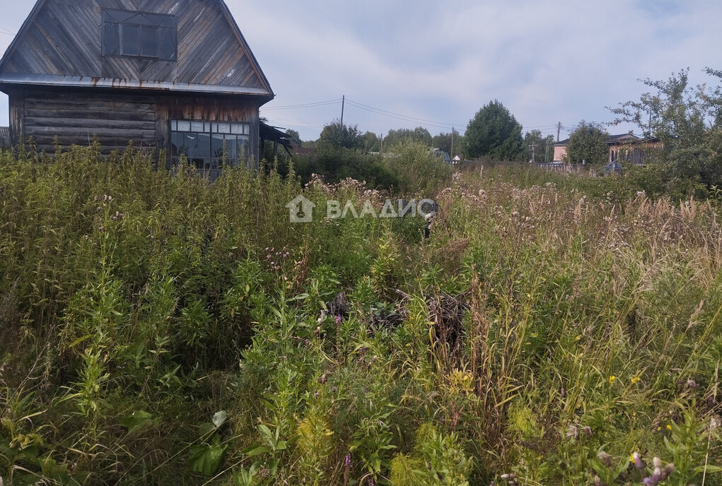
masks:
MULTIPOLYGON (((103 154, 136 147, 170 151, 170 120, 243 122, 258 139, 258 103, 253 98, 98 92, 97 90, 24 89, 12 92, 15 140, 32 137, 38 150, 87 146, 97 137, 103 154)), ((248 147, 258 166, 258 146, 248 147)), ((168 162, 166 160, 165 162, 168 162)))

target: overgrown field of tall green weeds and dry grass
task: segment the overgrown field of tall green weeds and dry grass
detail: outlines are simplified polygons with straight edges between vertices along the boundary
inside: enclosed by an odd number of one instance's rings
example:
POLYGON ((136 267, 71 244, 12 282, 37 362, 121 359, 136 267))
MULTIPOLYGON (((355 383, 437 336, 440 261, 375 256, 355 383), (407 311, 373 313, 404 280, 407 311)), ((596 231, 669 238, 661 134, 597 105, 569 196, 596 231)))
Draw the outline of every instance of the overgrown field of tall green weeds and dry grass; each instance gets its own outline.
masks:
POLYGON ((429 239, 290 224, 353 180, 1 154, 5 484, 721 484, 718 208, 412 162, 429 239))

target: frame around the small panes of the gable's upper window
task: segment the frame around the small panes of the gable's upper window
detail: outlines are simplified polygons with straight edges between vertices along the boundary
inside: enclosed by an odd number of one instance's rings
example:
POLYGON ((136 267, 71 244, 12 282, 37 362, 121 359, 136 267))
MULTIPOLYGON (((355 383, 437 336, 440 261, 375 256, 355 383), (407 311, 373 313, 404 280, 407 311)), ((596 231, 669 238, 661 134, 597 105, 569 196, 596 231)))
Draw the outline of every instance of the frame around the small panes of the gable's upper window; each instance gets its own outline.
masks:
POLYGON ((103 9, 100 19, 100 53, 103 57, 112 58, 134 58, 147 59, 152 61, 164 61, 178 63, 178 19, 172 14, 158 14, 155 12, 139 12, 131 10, 103 9), (145 17, 146 22, 141 22, 139 18, 145 17), (156 17, 154 21, 152 17, 156 17), (136 18, 136 20, 133 20, 136 18), (108 27, 113 26, 113 27, 108 27), (137 47, 138 54, 128 54, 123 52, 123 30, 126 27, 137 29, 137 47), (108 30, 113 29, 110 35, 117 35, 118 48, 110 52, 108 48, 108 30), (156 38, 156 56, 148 56, 143 54, 144 33, 149 30, 155 31, 156 38), (170 34, 170 40, 173 42, 173 52, 170 56, 163 56, 164 35, 170 34))

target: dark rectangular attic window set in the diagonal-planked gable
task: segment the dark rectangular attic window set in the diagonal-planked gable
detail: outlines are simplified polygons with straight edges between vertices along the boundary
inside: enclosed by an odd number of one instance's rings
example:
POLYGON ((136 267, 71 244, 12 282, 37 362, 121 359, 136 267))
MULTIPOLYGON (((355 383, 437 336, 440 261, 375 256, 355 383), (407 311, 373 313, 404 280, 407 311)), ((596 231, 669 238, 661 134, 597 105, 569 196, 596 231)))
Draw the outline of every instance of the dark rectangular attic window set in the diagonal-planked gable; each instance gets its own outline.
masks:
POLYGON ((103 56, 176 61, 178 32, 175 16, 104 10, 103 56))

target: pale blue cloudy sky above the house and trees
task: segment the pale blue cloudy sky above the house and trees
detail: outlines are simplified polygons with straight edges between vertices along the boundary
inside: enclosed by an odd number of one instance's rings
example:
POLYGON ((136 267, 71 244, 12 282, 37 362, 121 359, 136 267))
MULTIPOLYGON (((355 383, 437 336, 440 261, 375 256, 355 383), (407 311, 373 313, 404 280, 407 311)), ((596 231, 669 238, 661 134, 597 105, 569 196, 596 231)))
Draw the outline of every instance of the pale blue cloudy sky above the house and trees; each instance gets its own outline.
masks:
MULTIPOLYGON (((4 52, 32 2, 0 4, 4 52)), ((720 0, 227 4, 276 94, 261 115, 304 140, 341 117, 344 95, 344 123, 361 131, 424 126, 435 135, 453 125, 463 133, 480 107, 499 100, 524 131, 556 136, 557 122, 612 120, 606 106, 646 91, 638 79, 689 67, 697 84, 714 81, 705 66, 722 69, 720 0)))

